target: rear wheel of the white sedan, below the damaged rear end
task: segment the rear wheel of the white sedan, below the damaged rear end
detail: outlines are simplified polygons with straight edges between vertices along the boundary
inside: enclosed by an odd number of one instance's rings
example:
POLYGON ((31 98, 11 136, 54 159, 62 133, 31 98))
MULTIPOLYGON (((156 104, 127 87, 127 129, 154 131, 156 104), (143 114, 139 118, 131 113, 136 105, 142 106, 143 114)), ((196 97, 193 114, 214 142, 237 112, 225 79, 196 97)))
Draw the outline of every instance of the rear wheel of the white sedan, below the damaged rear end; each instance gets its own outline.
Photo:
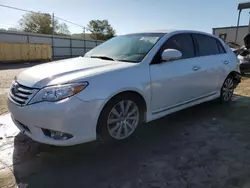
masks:
POLYGON ((233 97, 234 88, 234 79, 232 76, 228 76, 221 87, 220 102, 230 102, 233 97))

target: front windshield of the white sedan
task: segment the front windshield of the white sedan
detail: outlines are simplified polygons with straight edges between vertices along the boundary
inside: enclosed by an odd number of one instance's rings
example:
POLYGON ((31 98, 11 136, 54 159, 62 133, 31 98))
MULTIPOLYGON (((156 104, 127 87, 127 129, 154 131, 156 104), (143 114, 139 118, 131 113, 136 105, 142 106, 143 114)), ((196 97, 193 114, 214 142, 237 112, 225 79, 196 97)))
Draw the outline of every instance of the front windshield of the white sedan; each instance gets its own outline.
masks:
POLYGON ((140 33, 114 37, 86 53, 85 57, 140 62, 164 33, 140 33))

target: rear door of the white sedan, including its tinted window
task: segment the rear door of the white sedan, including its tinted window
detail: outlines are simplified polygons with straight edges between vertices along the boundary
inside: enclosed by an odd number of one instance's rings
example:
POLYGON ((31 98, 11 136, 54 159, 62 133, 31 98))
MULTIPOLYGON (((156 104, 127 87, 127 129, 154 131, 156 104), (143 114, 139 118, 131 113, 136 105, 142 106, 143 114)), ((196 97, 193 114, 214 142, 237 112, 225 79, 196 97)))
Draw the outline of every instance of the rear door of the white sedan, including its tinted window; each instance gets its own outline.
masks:
POLYGON ((199 84, 202 95, 214 94, 221 89, 221 82, 226 78, 228 54, 221 42, 212 36, 204 34, 193 34, 197 47, 197 65, 202 74, 199 84))

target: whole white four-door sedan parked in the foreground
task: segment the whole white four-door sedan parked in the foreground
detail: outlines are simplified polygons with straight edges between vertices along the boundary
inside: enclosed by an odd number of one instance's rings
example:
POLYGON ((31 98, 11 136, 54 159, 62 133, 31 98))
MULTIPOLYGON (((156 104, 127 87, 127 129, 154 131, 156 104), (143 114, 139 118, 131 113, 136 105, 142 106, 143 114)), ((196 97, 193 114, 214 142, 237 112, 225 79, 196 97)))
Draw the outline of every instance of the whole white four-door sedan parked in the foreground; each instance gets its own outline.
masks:
POLYGON ((85 57, 23 71, 8 106, 16 126, 38 142, 119 141, 142 122, 216 98, 228 102, 239 82, 235 54, 213 35, 135 33, 85 57))

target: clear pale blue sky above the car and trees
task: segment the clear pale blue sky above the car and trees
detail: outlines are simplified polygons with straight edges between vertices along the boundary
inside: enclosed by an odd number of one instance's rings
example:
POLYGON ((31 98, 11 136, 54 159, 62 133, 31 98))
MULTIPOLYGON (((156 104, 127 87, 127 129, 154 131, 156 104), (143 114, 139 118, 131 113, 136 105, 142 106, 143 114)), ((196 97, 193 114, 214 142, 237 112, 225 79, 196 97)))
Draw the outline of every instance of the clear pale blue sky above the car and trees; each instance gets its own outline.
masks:
MULTIPOLYGON (((0 0, 0 4, 54 13, 87 26, 93 19, 107 19, 117 34, 162 29, 191 29, 212 33, 214 27, 236 25, 242 0, 0 0)), ((244 2, 244 0, 243 0, 244 2)), ((243 10, 241 25, 248 24, 243 10)), ((24 12, 0 7, 0 28, 17 27, 24 12)), ((68 24, 70 32, 82 28, 68 24)))

